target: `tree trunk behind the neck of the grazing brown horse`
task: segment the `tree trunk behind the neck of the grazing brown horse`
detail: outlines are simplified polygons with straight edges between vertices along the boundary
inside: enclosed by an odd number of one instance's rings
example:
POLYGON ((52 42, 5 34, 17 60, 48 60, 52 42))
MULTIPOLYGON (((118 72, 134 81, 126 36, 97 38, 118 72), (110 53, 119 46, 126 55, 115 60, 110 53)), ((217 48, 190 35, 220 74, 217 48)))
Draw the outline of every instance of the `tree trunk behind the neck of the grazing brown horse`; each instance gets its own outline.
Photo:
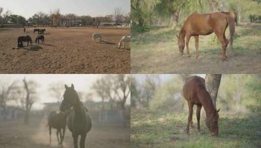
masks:
POLYGON ((209 92, 215 107, 216 107, 220 82, 221 82, 221 74, 206 74, 205 77, 206 89, 209 92))

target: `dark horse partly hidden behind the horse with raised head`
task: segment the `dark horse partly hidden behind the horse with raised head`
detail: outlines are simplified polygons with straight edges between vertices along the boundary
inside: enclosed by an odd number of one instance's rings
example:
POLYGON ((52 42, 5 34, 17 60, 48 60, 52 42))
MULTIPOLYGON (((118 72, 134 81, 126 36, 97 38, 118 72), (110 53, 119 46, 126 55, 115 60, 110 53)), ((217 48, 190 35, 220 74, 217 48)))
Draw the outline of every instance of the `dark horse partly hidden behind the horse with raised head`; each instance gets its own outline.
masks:
POLYGON ((58 145, 62 146, 62 141, 64 139, 66 124, 67 124, 67 112, 59 112, 59 111, 52 111, 48 116, 48 126, 49 126, 49 142, 51 146, 51 134, 52 128, 57 129, 56 136, 58 140, 58 145), (61 133, 62 129, 62 133, 61 133), (60 140, 59 140, 60 134, 60 140))

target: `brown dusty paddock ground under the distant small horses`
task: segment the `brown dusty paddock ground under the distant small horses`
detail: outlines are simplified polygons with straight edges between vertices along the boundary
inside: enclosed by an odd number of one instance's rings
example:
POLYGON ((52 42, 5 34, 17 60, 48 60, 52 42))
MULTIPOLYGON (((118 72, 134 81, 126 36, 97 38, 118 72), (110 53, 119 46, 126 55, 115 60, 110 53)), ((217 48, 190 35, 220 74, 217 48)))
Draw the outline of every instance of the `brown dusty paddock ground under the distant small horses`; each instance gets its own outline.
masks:
MULTIPOLYGON (((129 74, 130 50, 116 49, 126 28, 46 28, 45 44, 15 49, 19 36, 34 28, 0 29, 0 73, 2 74, 129 74), (107 43, 92 43, 91 35, 100 33, 107 43)), ((26 46, 26 43, 24 43, 26 46)), ((129 46, 127 46, 129 47, 129 46)))

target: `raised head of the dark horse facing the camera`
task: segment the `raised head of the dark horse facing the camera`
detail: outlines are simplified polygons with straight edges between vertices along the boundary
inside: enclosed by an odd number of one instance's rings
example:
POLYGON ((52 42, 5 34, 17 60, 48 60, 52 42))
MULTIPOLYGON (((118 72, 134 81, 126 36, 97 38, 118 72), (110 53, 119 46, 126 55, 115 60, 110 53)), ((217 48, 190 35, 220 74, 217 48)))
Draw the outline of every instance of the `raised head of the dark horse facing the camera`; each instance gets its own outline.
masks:
POLYGON ((68 87, 65 84, 65 92, 63 93, 63 100, 60 105, 60 111, 66 111, 70 109, 75 102, 75 98, 78 97, 77 92, 74 90, 74 85, 68 87))

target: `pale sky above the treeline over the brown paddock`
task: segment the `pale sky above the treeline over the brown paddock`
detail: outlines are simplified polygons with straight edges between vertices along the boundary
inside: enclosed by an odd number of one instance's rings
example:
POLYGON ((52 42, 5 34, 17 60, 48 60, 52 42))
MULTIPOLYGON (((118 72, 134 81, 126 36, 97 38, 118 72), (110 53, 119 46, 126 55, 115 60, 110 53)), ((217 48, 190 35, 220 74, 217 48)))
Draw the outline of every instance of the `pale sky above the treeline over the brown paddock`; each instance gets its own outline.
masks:
POLYGON ((130 0, 0 0, 0 7, 26 19, 37 12, 49 13, 57 8, 60 8, 61 14, 100 17, 113 14, 115 8, 129 13, 130 0))

